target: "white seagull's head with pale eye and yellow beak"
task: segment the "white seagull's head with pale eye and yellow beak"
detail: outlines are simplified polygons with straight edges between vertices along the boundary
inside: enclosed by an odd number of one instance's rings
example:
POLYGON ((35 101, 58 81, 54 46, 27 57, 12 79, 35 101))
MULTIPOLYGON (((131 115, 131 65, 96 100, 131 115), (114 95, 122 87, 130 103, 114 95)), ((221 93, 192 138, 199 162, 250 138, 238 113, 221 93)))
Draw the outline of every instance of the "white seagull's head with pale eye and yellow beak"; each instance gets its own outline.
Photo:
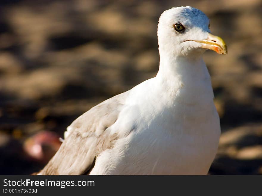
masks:
POLYGON ((209 26, 208 17, 194 7, 173 7, 164 11, 157 28, 160 53, 187 56, 209 49, 227 54, 224 40, 211 34, 209 26))

